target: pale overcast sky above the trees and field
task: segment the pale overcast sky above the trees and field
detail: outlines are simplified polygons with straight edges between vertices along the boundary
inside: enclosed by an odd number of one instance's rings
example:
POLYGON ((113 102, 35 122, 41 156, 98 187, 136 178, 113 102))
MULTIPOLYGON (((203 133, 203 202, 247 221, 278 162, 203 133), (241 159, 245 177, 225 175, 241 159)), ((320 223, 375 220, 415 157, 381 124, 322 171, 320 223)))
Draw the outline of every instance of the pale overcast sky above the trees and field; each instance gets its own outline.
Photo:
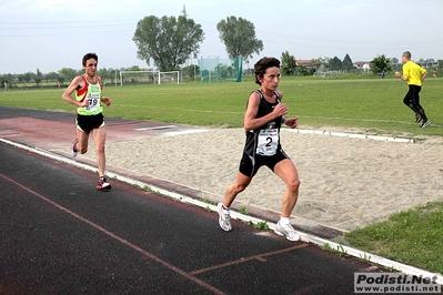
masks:
POLYGON ((442 0, 2 0, 0 74, 80 70, 91 51, 100 68, 148 68, 132 41, 137 22, 179 17, 183 6, 204 31, 199 58, 226 58, 217 23, 233 16, 252 22, 263 41, 250 68, 284 51, 306 60, 401 59, 405 50, 413 60, 443 59, 442 0))

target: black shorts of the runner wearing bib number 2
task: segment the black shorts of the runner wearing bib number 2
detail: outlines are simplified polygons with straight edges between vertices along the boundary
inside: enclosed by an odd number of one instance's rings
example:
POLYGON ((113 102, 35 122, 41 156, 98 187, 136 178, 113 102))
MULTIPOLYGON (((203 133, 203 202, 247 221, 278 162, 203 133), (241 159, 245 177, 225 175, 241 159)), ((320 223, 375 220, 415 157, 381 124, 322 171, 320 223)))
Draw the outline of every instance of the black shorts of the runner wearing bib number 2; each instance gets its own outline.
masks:
POLYGON ((276 163, 283 161, 284 159, 290 159, 282 149, 279 149, 274 155, 249 155, 243 153, 242 160, 240 161, 239 171, 249 176, 253 177, 259 169, 263 165, 268 166, 270 170, 274 171, 276 163))

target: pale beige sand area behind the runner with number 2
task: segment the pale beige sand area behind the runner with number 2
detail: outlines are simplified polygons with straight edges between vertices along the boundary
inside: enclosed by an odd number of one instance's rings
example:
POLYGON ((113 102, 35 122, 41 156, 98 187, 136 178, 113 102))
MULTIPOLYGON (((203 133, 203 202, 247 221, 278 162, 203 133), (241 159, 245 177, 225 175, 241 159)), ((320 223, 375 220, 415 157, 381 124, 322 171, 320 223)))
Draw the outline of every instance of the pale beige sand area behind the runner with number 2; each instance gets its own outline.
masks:
MULTIPOLYGON (((350 231, 399 211, 443 201, 441 139, 411 143, 338 135, 281 131, 282 146, 302 182, 293 216, 350 231)), ((222 201, 235 179, 244 139, 243 129, 211 129, 113 142, 107 145, 107 162, 222 201)), ((88 154, 94 157, 93 152, 88 154)), ((262 167, 236 200, 280 212, 284 189, 275 174, 262 167)))

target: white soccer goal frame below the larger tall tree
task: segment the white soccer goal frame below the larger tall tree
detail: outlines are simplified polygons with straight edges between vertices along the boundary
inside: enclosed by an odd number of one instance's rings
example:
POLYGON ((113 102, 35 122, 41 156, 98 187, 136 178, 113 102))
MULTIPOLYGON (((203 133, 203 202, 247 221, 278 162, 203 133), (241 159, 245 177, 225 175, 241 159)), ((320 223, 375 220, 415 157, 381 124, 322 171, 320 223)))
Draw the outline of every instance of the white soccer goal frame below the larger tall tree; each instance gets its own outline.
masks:
POLYGON ((180 84, 180 71, 121 71, 120 85, 123 84, 180 84))

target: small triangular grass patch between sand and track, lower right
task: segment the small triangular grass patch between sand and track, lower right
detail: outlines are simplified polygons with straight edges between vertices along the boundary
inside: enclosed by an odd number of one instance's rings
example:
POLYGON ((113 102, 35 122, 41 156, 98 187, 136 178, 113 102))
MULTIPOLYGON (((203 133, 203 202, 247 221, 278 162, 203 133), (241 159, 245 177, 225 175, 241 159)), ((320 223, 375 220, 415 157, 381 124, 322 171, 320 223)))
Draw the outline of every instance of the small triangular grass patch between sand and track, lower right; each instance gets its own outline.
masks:
POLYGON ((393 214, 389 221, 345 234, 345 241, 356 248, 442 273, 443 202, 393 214))

